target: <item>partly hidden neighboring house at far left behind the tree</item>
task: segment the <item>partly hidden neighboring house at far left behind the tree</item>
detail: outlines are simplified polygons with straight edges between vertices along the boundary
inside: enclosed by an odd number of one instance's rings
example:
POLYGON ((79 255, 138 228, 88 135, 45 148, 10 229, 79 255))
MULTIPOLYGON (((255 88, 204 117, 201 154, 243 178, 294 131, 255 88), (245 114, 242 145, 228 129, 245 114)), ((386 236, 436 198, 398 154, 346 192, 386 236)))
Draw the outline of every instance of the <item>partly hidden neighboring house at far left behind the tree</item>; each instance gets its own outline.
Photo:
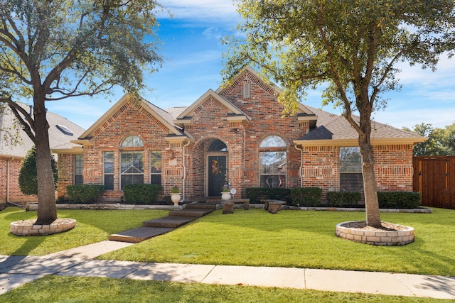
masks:
MULTIPOLYGON (((33 202, 35 196, 22 194, 19 189, 18 176, 21 162, 33 142, 19 126, 16 117, 6 104, 0 110, 0 203, 4 202, 33 202)), ((33 108, 21 104, 23 109, 33 113, 33 108)), ((48 112, 50 147, 71 148, 75 146, 70 141, 78 138, 85 130, 68 119, 48 112)), ((57 159, 55 159, 57 160, 57 159)))

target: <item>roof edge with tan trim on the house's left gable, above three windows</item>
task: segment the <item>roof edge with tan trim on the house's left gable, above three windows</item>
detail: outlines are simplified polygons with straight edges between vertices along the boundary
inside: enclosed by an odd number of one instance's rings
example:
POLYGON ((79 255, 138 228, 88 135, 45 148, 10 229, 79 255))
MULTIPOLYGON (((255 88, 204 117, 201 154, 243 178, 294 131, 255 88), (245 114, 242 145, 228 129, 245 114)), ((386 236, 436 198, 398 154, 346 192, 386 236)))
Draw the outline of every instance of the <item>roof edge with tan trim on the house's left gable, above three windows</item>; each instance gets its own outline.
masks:
MULTIPOLYGON (((112 106, 104 115, 101 116, 100 119, 98 119, 95 123, 93 123, 92 126, 90 126, 87 131, 82 133, 82 135, 78 138, 78 140, 73 141, 74 143, 78 144, 84 144, 90 141, 91 138, 95 136, 95 131, 97 131, 98 128, 102 127, 102 125, 107 122, 124 104, 127 104, 129 101, 134 101, 133 97, 131 94, 124 94, 124 96, 117 101, 114 106, 112 106)), ((158 106, 155 106, 154 104, 151 104, 149 101, 146 101, 145 99, 141 99, 140 101, 141 106, 146 109, 152 116, 154 116, 158 121, 164 124, 169 130, 169 137, 188 137, 182 130, 181 128, 178 128, 177 126, 173 125, 173 116, 168 113, 168 111, 165 111, 164 109, 160 109, 158 106)))

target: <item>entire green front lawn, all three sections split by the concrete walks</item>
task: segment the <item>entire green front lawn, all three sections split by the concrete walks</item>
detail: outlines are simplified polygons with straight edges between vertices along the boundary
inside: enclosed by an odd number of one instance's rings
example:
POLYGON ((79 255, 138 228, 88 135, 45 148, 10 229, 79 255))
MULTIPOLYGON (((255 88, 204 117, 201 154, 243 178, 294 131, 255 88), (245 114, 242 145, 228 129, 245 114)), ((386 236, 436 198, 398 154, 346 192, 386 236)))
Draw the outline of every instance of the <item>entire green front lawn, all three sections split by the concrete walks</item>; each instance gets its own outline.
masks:
MULTIPOLYGON (((59 210, 77 226, 45 237, 9 233, 12 221, 36 212, 0 211, 0 255, 45 255, 107 239, 111 233, 141 226, 168 211, 59 210)), ((381 218, 413 226, 414 243, 403 247, 368 246, 334 236, 342 221, 362 220, 359 212, 279 211, 234 214, 215 211, 149 241, 102 255, 103 259, 146 262, 265 265, 298 268, 375 270, 455 276, 455 211, 433 214, 383 213, 381 218)), ((318 292, 95 277, 48 276, 0 295, 0 302, 446 302, 437 299, 373 294, 318 292)))

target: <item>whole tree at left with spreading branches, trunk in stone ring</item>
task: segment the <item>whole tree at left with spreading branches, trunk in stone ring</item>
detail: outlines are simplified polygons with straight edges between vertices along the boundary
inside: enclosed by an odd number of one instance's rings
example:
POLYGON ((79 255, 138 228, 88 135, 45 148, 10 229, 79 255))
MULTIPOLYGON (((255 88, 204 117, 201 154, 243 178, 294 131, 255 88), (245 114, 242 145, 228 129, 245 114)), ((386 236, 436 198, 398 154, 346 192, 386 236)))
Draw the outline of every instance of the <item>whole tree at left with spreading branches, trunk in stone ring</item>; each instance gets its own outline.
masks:
POLYGON ((36 224, 57 218, 45 102, 117 85, 138 95, 144 69, 162 62, 157 9, 154 0, 0 0, 0 103, 36 145, 36 224), (16 103, 21 98, 33 101, 33 115, 16 103))

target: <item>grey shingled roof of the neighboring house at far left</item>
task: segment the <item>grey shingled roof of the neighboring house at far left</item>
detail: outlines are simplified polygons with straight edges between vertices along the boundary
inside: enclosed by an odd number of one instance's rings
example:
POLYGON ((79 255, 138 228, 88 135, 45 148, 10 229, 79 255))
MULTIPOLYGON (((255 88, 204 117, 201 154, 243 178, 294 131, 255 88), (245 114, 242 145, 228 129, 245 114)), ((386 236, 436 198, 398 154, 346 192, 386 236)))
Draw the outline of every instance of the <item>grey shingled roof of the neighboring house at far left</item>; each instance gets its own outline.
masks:
MULTIPOLYGON (((18 103, 23 109, 30 112, 31 106, 18 103)), ((49 123, 49 143, 53 150, 56 147, 73 148, 77 145, 71 143, 72 140, 80 136, 84 132, 77 124, 69 121, 55 113, 48 111, 46 119, 49 123)), ((5 104, 4 110, 0 111, 0 157, 23 158, 28 150, 33 147, 33 141, 28 138, 27 134, 19 126, 15 128, 16 117, 14 116, 9 106, 5 104), (18 136, 18 144, 11 144, 8 138, 8 133, 11 136, 18 136)), ((16 121, 17 122, 17 121, 16 121)), ((18 123, 18 122, 17 122, 18 123)))

